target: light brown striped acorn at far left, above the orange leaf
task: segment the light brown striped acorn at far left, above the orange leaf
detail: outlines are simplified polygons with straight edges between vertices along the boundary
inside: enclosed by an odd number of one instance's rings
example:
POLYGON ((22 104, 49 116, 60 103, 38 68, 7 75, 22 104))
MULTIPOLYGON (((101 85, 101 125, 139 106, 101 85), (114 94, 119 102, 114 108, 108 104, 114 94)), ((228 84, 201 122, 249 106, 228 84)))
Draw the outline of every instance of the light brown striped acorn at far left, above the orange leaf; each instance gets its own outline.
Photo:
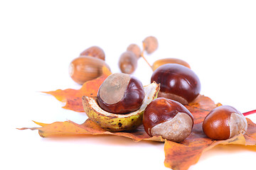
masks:
POLYGON ((95 57, 78 57, 70 63, 70 77, 78 84, 84 84, 86 81, 96 79, 102 75, 102 67, 110 67, 106 62, 95 57))

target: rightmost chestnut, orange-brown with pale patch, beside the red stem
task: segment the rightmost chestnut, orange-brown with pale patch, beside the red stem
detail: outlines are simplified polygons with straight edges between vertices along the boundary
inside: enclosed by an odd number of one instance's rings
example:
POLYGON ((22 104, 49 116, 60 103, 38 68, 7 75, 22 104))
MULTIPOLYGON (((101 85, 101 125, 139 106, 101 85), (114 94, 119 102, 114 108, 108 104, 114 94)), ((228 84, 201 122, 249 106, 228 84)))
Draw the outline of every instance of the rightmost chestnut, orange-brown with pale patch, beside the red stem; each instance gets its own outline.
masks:
POLYGON ((213 140, 227 140, 247 130, 245 116, 232 106, 219 106, 203 120, 203 132, 213 140))

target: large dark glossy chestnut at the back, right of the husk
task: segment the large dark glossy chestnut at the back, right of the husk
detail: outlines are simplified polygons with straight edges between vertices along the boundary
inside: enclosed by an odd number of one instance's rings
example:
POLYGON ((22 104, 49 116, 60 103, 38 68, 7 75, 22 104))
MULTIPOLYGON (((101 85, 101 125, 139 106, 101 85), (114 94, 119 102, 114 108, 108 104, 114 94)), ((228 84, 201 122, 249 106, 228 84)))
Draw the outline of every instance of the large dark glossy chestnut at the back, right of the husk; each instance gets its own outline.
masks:
POLYGON ((151 82, 160 83, 159 97, 165 97, 182 104, 191 103, 201 91, 198 76, 181 64, 164 64, 151 76, 151 82))

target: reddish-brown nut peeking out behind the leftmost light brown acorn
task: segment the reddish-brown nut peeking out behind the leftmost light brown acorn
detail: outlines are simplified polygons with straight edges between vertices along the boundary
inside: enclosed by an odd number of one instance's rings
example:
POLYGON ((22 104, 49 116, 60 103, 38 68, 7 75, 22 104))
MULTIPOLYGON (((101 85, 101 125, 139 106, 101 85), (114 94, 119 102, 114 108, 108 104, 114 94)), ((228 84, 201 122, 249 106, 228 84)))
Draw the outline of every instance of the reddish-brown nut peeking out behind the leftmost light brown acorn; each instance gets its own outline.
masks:
POLYGON ((91 56, 99 58, 101 60, 105 60, 105 52, 102 50, 101 47, 98 46, 88 47, 80 53, 80 56, 91 56))

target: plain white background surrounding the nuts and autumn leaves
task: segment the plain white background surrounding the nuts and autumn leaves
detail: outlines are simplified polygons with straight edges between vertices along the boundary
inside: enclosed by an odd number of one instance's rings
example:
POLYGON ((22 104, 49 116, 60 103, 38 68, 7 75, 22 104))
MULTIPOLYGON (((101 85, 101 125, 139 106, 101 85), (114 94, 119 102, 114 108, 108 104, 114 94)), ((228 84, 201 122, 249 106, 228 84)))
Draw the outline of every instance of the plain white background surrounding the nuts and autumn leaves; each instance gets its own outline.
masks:
MULTIPOLYGON (((125 137, 41 138, 16 130, 73 120, 40 91, 79 89, 68 65, 82 50, 105 50, 112 72, 130 43, 146 36, 159 49, 146 58, 186 60, 201 79, 201 94, 244 113, 256 109, 255 1, 1 1, 0 169, 166 169, 164 143, 125 137)), ((140 59, 134 75, 149 84, 151 70, 140 59)), ((256 116, 247 116, 256 123, 256 116)), ((255 169, 256 152, 216 147, 190 169, 255 169)))

